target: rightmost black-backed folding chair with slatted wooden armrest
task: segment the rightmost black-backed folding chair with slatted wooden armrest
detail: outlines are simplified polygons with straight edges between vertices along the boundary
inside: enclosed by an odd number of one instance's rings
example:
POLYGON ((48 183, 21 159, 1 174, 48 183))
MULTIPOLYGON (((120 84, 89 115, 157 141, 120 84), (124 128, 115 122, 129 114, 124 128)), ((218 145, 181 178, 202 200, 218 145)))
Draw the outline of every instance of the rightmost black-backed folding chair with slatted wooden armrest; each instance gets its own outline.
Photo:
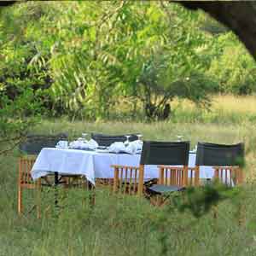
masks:
POLYGON ((198 143, 195 168, 213 166, 214 178, 234 186, 242 183, 241 167, 244 165, 244 144, 233 145, 198 143))

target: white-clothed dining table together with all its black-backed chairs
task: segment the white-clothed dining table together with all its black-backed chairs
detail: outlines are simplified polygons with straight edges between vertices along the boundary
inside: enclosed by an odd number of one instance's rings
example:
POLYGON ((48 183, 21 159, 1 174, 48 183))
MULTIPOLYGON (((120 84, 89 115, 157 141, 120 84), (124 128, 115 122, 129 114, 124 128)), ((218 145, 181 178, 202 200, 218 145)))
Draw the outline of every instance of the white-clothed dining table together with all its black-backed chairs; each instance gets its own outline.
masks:
MULTIPOLYGON (((37 216, 44 187, 97 189, 137 195, 156 195, 166 201, 172 192, 218 180, 234 187, 243 182, 244 145, 143 141, 142 134, 83 133, 68 142, 67 135, 30 135, 20 144, 18 212, 23 211, 23 189, 37 189, 37 216)), ((58 203, 55 195, 55 205, 58 203)), ((159 203, 158 203, 159 204, 159 203)))

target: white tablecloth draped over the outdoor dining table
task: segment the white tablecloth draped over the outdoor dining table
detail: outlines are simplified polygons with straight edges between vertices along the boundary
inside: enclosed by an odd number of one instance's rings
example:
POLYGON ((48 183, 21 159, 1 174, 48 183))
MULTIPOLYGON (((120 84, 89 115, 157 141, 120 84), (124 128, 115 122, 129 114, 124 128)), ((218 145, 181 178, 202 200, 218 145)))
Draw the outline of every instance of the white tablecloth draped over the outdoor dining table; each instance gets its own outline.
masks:
MULTIPOLYGON (((111 165, 139 166, 140 154, 110 154, 77 149, 43 148, 32 167, 32 178, 50 172, 81 174, 95 184, 96 178, 113 178, 111 165)), ((189 166, 195 166, 195 154, 189 154, 189 166)), ((212 178, 211 166, 201 166, 200 177, 212 178)), ((159 177, 157 166, 145 166, 145 179, 159 177)))

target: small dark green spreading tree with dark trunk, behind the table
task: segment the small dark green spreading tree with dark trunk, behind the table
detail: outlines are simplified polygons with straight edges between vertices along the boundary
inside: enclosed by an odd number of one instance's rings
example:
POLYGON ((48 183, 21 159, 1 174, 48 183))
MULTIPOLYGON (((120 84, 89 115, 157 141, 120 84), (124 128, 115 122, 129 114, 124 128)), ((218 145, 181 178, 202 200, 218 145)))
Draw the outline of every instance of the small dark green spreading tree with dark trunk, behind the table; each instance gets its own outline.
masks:
POLYGON ((148 119, 167 119, 175 97, 186 98, 208 108, 211 102, 208 95, 216 87, 212 80, 199 71, 177 73, 172 78, 168 57, 164 54, 152 56, 138 80, 138 96, 148 119))

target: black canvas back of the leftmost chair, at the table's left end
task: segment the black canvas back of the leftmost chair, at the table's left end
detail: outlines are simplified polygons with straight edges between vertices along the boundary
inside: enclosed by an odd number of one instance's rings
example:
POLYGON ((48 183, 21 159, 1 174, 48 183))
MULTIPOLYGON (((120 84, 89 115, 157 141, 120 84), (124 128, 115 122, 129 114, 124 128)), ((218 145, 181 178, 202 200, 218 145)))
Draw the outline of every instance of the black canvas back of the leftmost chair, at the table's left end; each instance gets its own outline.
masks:
POLYGON ((20 151, 26 154, 39 154, 42 148, 55 148, 56 143, 67 140, 66 134, 58 135, 28 135, 23 143, 20 143, 20 151))

